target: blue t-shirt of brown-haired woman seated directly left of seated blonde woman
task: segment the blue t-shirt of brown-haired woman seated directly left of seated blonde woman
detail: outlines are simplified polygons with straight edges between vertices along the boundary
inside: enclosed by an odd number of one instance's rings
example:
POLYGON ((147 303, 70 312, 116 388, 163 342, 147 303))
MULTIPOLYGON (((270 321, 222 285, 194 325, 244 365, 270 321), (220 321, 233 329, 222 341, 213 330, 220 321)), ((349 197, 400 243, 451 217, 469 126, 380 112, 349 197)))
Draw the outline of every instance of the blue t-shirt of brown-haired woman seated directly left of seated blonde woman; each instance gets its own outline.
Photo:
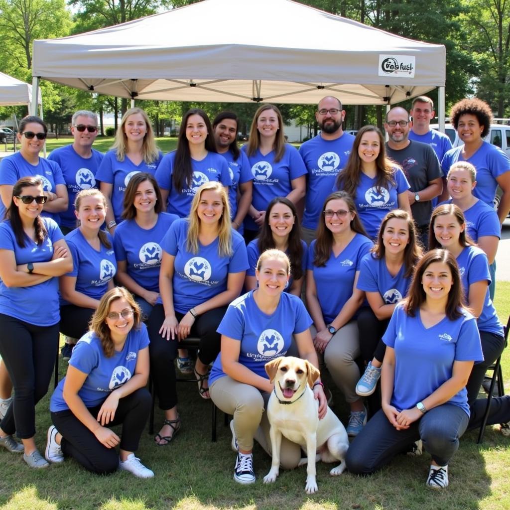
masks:
POLYGON ((142 228, 135 219, 125 220, 115 228, 113 244, 117 261, 126 261, 127 274, 146 290, 159 293, 159 273, 163 251, 161 240, 175 214, 160 213, 152 228, 142 228))

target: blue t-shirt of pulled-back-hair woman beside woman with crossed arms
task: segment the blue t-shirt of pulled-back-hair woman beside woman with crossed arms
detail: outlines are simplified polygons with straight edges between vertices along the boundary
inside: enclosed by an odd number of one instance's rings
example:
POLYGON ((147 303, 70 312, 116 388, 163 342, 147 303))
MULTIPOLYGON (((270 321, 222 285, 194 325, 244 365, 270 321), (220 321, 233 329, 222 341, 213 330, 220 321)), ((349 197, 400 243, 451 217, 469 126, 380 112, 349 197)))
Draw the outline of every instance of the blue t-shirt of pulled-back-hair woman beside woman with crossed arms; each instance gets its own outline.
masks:
MULTIPOLYGON (((65 236, 67 246, 72 255, 72 271, 66 276, 75 276, 77 292, 92 299, 101 299, 108 290, 108 282, 117 272, 117 261, 113 250, 112 236, 105 232, 111 248, 100 243, 99 251, 94 249, 83 237, 80 228, 75 228, 65 236)), ((61 299, 61 305, 70 304, 61 299)))

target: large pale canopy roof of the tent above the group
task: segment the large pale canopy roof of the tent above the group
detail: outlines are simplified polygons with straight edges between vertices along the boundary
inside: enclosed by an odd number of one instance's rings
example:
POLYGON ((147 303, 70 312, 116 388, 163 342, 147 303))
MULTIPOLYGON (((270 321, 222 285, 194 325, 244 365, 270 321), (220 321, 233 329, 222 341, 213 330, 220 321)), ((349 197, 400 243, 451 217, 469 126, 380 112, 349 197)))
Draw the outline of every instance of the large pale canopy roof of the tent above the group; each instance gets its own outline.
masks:
POLYGON ((290 0, 205 0, 37 40, 33 75, 139 99, 312 104, 329 93, 344 104, 385 104, 444 86, 445 59, 443 45, 290 0))

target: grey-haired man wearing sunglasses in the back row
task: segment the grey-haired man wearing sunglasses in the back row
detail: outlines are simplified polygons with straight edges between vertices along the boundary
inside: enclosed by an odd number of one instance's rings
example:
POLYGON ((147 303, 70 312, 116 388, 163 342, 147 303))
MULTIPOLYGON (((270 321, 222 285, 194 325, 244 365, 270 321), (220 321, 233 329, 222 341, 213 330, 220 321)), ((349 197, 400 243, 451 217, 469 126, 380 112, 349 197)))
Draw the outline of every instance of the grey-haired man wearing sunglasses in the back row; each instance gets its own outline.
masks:
POLYGON ((97 115, 87 110, 76 112, 71 119, 71 133, 74 141, 71 145, 53 150, 48 160, 56 161, 67 186, 69 207, 60 213, 60 228, 64 235, 76 227, 74 199, 83 189, 98 188, 95 174, 103 154, 92 148, 97 137, 97 115))

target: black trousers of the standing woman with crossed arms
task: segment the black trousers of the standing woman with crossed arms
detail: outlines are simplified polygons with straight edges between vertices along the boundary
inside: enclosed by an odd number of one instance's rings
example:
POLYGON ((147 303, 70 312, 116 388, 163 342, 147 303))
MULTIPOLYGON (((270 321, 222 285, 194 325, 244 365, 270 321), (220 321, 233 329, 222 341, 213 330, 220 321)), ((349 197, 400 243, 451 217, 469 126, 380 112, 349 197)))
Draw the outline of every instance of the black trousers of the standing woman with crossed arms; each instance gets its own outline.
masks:
POLYGON ((14 402, 0 428, 21 439, 35 436, 35 405, 48 391, 59 346, 59 325, 36 326, 0 314, 0 354, 14 387, 14 402))

